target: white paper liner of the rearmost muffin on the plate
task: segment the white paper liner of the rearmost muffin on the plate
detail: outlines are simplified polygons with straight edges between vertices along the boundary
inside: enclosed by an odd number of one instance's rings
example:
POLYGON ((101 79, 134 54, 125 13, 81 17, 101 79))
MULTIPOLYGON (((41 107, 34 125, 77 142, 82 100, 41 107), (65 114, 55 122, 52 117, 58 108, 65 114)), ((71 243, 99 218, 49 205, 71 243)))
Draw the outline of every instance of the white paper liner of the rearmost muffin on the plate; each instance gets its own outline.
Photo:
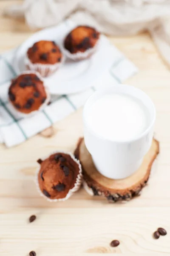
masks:
POLYGON ((80 60, 83 60, 83 59, 86 59, 86 58, 89 58, 94 52, 96 52, 98 46, 99 46, 99 41, 100 41, 100 35, 99 35, 99 39, 98 41, 96 42, 95 46, 86 50, 85 52, 77 52, 77 53, 71 53, 69 52, 67 49, 65 49, 64 47, 64 42, 62 44, 62 52, 65 54, 66 57, 74 60, 74 61, 80 61, 80 60))

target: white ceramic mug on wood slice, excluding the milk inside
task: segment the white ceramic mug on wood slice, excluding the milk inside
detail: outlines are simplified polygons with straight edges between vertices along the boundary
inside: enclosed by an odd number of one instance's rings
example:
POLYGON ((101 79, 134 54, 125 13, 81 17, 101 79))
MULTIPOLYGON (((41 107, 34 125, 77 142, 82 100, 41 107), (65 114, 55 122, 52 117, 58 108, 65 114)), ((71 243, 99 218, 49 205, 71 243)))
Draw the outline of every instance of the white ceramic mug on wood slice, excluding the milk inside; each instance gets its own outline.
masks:
POLYGON ((144 155, 151 146, 155 119, 156 110, 154 104, 142 90, 125 84, 97 90, 87 100, 83 110, 85 145, 97 170, 111 179, 122 179, 132 175, 141 165, 144 155), (90 128, 88 114, 91 111, 91 105, 102 95, 108 93, 124 93, 139 99, 145 105, 150 121, 139 137, 123 142, 113 141, 99 136, 90 128))

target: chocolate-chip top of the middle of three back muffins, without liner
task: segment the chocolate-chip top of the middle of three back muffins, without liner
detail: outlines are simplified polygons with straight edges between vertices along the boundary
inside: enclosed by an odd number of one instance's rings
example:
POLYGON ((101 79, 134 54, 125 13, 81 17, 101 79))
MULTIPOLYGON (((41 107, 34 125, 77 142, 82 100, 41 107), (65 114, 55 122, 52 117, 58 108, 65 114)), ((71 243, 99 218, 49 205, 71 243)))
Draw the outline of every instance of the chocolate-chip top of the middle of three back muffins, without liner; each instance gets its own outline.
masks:
POLYGON ((32 63, 56 64, 62 60, 62 52, 54 41, 38 41, 27 51, 32 63))

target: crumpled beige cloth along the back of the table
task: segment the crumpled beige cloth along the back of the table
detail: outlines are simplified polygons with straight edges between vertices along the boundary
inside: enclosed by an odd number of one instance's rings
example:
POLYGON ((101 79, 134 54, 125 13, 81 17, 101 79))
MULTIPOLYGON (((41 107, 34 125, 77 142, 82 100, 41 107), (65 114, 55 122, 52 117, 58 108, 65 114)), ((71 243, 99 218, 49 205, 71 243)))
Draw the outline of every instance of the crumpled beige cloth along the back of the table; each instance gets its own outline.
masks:
POLYGON ((22 6, 11 6, 5 13, 24 15, 31 29, 68 17, 108 35, 134 35, 147 29, 170 65, 170 0, 25 0, 22 6))

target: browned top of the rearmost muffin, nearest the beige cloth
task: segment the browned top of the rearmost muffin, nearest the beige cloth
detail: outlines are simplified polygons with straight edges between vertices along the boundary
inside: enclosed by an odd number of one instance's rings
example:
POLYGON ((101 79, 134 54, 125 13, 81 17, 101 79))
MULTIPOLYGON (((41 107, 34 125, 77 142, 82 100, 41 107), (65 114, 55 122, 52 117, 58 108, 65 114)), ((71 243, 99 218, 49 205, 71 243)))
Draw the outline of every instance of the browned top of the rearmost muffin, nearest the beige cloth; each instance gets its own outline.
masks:
POLYGON ((71 53, 85 52, 95 46, 100 33, 90 26, 77 26, 65 38, 64 47, 71 53))

